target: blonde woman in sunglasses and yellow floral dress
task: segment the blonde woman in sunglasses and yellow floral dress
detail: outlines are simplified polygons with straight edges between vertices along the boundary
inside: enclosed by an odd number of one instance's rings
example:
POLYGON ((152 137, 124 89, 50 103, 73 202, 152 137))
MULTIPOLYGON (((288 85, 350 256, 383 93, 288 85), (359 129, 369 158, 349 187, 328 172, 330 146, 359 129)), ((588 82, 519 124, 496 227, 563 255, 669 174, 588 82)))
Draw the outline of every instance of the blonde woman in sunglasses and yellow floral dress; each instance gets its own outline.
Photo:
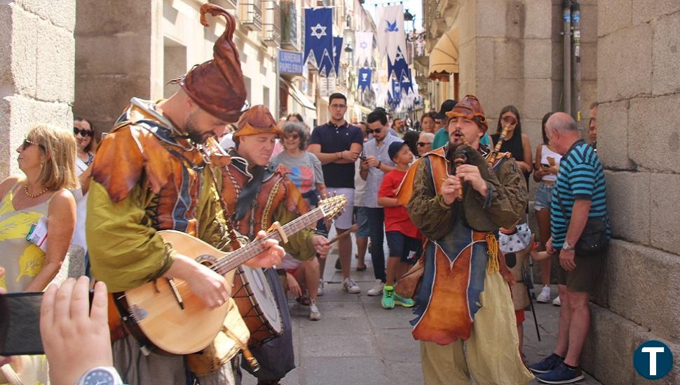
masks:
MULTIPOLYGON (((66 278, 66 258, 76 223, 78 188, 76 141, 71 132, 50 125, 32 127, 17 148, 23 174, 0 183, 0 288, 42 291, 66 278), (30 239, 30 241, 28 240, 30 239), (60 269, 61 268, 61 269, 60 269)), ((44 357, 17 359, 22 379, 47 384, 44 357)), ((0 381, 2 382, 2 381, 0 381)))

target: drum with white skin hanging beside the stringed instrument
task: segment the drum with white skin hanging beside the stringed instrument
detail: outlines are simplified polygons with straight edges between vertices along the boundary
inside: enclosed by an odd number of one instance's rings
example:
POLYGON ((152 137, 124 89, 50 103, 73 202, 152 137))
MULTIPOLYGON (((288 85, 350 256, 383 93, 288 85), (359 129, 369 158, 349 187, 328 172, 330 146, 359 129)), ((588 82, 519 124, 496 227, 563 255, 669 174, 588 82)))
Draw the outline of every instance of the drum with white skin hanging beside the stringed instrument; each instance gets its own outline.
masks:
POLYGON ((239 267, 233 277, 232 297, 250 330, 249 346, 264 344, 283 334, 276 297, 262 269, 239 267))

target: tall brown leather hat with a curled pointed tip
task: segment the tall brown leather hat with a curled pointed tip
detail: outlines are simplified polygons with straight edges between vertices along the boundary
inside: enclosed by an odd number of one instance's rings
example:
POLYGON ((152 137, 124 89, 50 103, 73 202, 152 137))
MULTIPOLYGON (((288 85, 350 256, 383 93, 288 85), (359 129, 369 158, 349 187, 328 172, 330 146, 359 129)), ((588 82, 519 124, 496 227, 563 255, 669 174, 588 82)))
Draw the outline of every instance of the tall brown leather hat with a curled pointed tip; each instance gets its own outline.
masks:
POLYGON ((236 20, 224 8, 205 3, 200 6, 200 23, 205 27, 210 26, 205 20, 205 13, 224 16, 226 29, 212 48, 213 59, 194 66, 180 80, 180 85, 201 109, 215 118, 233 123, 243 113, 247 98, 238 50, 232 41, 236 20))

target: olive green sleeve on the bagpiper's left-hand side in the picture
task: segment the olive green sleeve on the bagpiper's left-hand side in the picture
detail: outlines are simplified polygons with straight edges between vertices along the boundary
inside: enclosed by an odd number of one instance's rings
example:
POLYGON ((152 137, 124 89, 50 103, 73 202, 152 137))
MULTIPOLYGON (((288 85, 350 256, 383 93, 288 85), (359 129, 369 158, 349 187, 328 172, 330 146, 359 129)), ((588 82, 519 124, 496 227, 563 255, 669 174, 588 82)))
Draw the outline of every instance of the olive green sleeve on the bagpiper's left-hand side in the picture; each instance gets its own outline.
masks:
POLYGON ((418 162, 407 209, 411 221, 423 235, 440 239, 451 230, 454 209, 444 203, 442 195, 437 195, 431 174, 428 162, 418 162))

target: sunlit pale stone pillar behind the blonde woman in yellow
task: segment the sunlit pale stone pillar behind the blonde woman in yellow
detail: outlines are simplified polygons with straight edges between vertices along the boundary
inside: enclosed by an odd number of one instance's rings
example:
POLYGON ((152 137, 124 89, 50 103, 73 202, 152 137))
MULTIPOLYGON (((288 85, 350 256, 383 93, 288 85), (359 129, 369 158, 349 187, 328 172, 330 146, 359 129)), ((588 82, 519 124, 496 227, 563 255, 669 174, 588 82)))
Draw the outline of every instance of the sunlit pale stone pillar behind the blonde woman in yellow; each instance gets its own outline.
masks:
POLYGON ((0 178, 35 123, 73 125, 76 1, 0 1, 0 178))

